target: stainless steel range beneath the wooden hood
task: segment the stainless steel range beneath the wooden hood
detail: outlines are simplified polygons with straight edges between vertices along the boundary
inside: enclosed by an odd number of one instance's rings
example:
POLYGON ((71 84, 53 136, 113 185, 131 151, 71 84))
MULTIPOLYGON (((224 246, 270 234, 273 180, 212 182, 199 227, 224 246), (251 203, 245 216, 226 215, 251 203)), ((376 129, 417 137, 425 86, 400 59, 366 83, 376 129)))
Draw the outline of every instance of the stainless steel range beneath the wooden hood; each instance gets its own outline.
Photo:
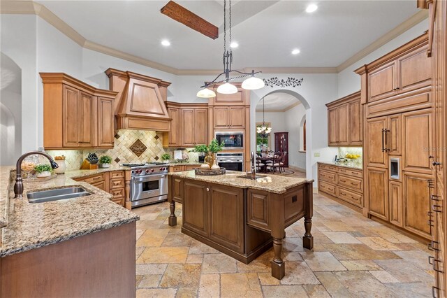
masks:
POLYGON ((158 203, 168 199, 169 166, 150 164, 122 164, 131 168, 132 207, 158 203))

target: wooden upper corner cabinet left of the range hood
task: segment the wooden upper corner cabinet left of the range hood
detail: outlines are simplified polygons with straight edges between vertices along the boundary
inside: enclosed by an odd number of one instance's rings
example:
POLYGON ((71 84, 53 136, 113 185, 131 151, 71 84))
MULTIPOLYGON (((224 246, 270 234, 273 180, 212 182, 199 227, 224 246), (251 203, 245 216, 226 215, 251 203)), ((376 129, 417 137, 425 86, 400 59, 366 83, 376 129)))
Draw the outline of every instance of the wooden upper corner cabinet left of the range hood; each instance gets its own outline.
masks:
POLYGON ((41 73, 45 149, 113 148, 117 92, 65 73, 41 73))

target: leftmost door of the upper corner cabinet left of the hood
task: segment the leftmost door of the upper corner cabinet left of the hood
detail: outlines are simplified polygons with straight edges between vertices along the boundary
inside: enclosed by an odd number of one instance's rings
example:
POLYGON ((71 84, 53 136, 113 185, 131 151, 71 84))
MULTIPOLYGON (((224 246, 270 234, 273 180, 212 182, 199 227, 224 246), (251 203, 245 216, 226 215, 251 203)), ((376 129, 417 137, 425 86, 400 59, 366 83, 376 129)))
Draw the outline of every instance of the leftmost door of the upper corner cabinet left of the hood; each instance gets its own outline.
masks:
POLYGON ((66 85, 62 90, 62 146, 79 147, 80 91, 66 85))

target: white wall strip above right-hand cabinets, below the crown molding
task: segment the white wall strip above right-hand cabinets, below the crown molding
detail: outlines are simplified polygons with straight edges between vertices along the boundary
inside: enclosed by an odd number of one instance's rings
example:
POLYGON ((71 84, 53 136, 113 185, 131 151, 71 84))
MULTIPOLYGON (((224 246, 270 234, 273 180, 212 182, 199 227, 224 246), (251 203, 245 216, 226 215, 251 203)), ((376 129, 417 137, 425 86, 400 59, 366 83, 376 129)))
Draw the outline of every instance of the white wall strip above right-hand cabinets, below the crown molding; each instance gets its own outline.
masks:
POLYGON ((353 92, 357 92, 360 90, 360 76, 357 73, 354 73, 356 69, 360 66, 369 64, 373 62, 375 59, 382 57, 383 55, 399 48, 401 45, 408 43, 414 38, 422 35, 428 29, 428 19, 423 20, 419 24, 411 27, 409 30, 405 31, 400 36, 397 36, 393 40, 389 41, 385 45, 382 45, 380 48, 372 52, 371 54, 363 57, 358 60, 358 62, 352 64, 347 67, 343 71, 338 73, 338 98, 345 97, 348 94, 353 92))

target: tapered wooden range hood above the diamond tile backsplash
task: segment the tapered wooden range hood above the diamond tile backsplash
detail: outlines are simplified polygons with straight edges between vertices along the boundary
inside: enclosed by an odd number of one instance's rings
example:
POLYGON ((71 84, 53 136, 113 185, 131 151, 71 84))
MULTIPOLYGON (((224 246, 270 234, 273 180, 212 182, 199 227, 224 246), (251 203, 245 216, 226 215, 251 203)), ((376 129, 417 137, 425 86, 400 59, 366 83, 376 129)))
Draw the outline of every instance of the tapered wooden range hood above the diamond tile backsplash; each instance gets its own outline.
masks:
POLYGON ((109 89, 118 92, 114 107, 117 129, 169 131, 171 118, 165 105, 169 82, 117 69, 105 73, 109 89))

